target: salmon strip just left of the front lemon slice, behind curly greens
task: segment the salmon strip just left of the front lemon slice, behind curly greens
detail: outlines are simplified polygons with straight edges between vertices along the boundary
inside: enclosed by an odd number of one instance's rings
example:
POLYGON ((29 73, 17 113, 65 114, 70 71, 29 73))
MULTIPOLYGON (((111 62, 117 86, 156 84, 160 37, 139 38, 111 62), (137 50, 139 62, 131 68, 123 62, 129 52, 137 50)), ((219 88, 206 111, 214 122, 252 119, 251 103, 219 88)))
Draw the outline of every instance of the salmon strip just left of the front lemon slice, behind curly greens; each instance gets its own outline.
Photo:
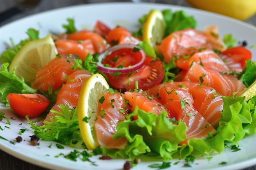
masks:
MULTIPOLYGON (((69 108, 76 108, 79 98, 79 93, 83 82, 92 74, 89 71, 78 70, 68 76, 67 82, 62 85, 60 92, 57 95, 56 103, 51 110, 60 111, 60 105, 68 105, 69 108)), ((51 111, 47 114, 45 121, 50 122, 50 118, 56 114, 51 111)))

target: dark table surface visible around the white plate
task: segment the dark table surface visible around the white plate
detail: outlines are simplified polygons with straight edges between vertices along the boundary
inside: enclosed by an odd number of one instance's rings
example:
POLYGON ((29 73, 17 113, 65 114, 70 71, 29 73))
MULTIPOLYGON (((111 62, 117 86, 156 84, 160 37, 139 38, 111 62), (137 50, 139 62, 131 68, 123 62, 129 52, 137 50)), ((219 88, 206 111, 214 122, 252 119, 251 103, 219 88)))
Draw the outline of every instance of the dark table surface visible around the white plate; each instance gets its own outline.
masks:
MULTIPOLYGON (((6 9, 9 9, 15 5, 17 0, 0 0, 0 13, 6 9)), ((0 22, 0 26, 11 22, 13 20, 17 20, 19 18, 25 17, 27 15, 32 15, 34 13, 38 13, 41 11, 47 11, 49 9, 56 9, 61 7, 67 7, 71 5, 78 5, 78 4, 86 4, 86 3, 98 3, 98 2, 129 2, 131 0, 42 0, 40 4, 27 11, 23 11, 22 13, 17 13, 16 15, 11 16, 7 20, 0 22)), ((159 2, 159 3, 168 3, 168 4, 178 4, 182 6, 189 6, 184 2, 184 0, 151 0, 151 2, 159 2)), ((256 16, 249 18, 245 22, 253 24, 256 26, 256 16)), ((1 149, 1 148, 0 148, 1 149)), ((256 164, 256 162, 255 162, 256 164)), ((16 157, 9 155, 8 153, 3 152, 0 150, 0 170, 47 170, 45 168, 36 166, 31 163, 27 163, 16 157)), ((244 170, 256 170, 256 166, 249 167, 244 170)))

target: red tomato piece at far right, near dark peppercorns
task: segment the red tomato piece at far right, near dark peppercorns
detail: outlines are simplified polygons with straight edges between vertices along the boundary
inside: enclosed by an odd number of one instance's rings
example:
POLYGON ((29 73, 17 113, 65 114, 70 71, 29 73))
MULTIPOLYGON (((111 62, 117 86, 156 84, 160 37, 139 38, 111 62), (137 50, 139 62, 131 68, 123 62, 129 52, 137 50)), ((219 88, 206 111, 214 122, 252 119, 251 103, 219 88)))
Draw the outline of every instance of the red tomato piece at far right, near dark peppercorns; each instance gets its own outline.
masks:
POLYGON ((232 58, 234 62, 241 63, 242 68, 245 68, 246 60, 252 59, 251 51, 243 46, 232 47, 223 51, 222 53, 220 53, 220 55, 227 55, 228 57, 232 58))

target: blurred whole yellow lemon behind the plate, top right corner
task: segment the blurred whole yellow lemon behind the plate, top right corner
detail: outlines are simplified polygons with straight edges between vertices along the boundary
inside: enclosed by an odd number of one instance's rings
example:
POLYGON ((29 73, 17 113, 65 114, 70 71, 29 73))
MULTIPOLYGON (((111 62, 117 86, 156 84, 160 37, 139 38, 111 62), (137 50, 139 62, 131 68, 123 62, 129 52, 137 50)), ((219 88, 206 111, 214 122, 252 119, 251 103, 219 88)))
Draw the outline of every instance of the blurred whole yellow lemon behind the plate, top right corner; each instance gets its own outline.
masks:
POLYGON ((186 0, 192 7, 247 20, 256 13, 256 0, 186 0))

